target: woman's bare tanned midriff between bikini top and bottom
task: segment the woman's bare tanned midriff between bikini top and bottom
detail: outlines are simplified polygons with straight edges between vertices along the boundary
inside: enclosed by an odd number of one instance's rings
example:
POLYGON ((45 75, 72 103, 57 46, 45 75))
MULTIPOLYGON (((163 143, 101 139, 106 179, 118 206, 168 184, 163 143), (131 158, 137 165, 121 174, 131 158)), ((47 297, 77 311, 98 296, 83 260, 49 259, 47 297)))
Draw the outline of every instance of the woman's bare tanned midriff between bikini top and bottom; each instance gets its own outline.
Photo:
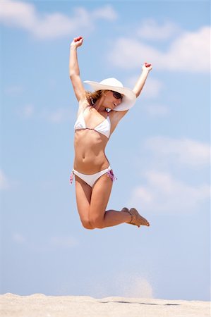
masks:
POLYGON ((109 161, 104 153, 107 142, 108 138, 95 130, 76 130, 74 169, 90 175, 108 168, 109 161))

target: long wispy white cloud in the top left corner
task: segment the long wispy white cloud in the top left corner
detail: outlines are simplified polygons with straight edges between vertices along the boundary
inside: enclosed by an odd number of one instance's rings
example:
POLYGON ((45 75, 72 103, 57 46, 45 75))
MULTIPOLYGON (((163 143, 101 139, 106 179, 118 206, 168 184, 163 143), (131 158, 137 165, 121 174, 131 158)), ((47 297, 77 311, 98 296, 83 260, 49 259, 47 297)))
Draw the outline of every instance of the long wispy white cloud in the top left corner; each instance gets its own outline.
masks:
POLYGON ((62 13, 39 13, 33 4, 22 1, 1 1, 0 21, 4 25, 20 27, 40 39, 78 35, 82 30, 90 31, 95 20, 115 20, 116 13, 111 6, 103 6, 93 11, 83 7, 74 9, 71 18, 62 13))

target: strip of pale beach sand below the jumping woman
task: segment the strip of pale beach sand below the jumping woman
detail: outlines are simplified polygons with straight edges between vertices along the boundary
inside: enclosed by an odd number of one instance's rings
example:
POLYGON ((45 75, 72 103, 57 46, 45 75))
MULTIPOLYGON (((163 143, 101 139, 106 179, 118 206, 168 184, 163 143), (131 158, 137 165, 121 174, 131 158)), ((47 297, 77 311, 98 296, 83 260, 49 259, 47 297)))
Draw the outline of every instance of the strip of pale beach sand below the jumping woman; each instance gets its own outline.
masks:
POLYGON ((1 317, 210 317, 210 302, 89 296, 0 295, 1 317))

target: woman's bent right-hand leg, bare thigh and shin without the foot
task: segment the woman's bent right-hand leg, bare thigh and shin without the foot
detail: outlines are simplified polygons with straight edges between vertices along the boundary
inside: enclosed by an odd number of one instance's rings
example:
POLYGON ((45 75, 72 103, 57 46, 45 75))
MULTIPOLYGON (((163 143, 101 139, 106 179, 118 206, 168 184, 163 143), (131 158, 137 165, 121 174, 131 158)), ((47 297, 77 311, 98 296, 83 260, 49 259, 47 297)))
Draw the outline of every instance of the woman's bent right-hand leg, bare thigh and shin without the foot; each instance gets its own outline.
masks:
POLYGON ((105 211, 111 194, 113 182, 107 174, 102 175, 92 187, 90 200, 90 224, 94 228, 106 228, 131 221, 125 211, 105 211))

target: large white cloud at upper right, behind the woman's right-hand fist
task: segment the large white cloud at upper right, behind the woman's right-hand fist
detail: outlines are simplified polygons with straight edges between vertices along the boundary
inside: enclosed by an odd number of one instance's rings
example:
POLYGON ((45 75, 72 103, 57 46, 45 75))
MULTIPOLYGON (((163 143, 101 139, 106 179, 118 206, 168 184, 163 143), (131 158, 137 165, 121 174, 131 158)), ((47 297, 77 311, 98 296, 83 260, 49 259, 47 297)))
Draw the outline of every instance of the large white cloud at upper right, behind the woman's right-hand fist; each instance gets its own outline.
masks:
POLYGON ((210 27, 201 27, 196 32, 182 32, 171 42, 167 51, 131 37, 121 37, 114 43, 108 59, 112 65, 121 68, 140 68, 140 61, 147 61, 152 63, 155 70, 210 71, 210 27))

